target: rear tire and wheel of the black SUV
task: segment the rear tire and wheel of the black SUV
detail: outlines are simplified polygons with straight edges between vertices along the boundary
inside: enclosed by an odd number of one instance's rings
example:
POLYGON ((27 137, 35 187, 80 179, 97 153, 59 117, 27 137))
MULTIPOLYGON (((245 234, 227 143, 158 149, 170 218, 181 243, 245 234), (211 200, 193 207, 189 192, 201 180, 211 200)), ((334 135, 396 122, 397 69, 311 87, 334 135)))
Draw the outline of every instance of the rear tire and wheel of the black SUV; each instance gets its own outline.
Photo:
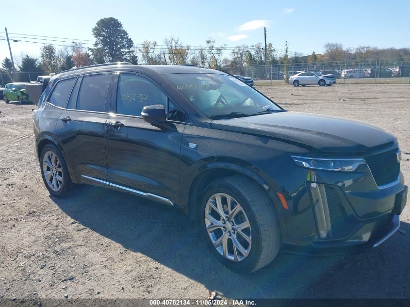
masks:
POLYGON ((72 182, 70 175, 68 173, 66 161, 64 160, 63 155, 61 154, 60 150, 57 148, 56 145, 47 144, 41 150, 40 169, 43 182, 51 195, 56 197, 65 197, 68 195, 68 192, 72 186, 72 182), (50 153, 52 154, 51 156, 50 153), (48 160, 49 163, 45 162, 46 155, 49 158, 51 158, 48 160), (54 155, 58 160, 54 160, 54 155), (53 161, 51 162, 50 160, 53 161), (45 177, 46 171, 50 171, 52 173, 51 176, 49 176, 47 179, 45 177), (58 176, 55 176, 54 172, 55 175, 58 176), (61 183, 58 177, 62 179, 61 183), (55 178, 56 181, 53 182, 52 180, 49 180, 51 178, 55 178))

